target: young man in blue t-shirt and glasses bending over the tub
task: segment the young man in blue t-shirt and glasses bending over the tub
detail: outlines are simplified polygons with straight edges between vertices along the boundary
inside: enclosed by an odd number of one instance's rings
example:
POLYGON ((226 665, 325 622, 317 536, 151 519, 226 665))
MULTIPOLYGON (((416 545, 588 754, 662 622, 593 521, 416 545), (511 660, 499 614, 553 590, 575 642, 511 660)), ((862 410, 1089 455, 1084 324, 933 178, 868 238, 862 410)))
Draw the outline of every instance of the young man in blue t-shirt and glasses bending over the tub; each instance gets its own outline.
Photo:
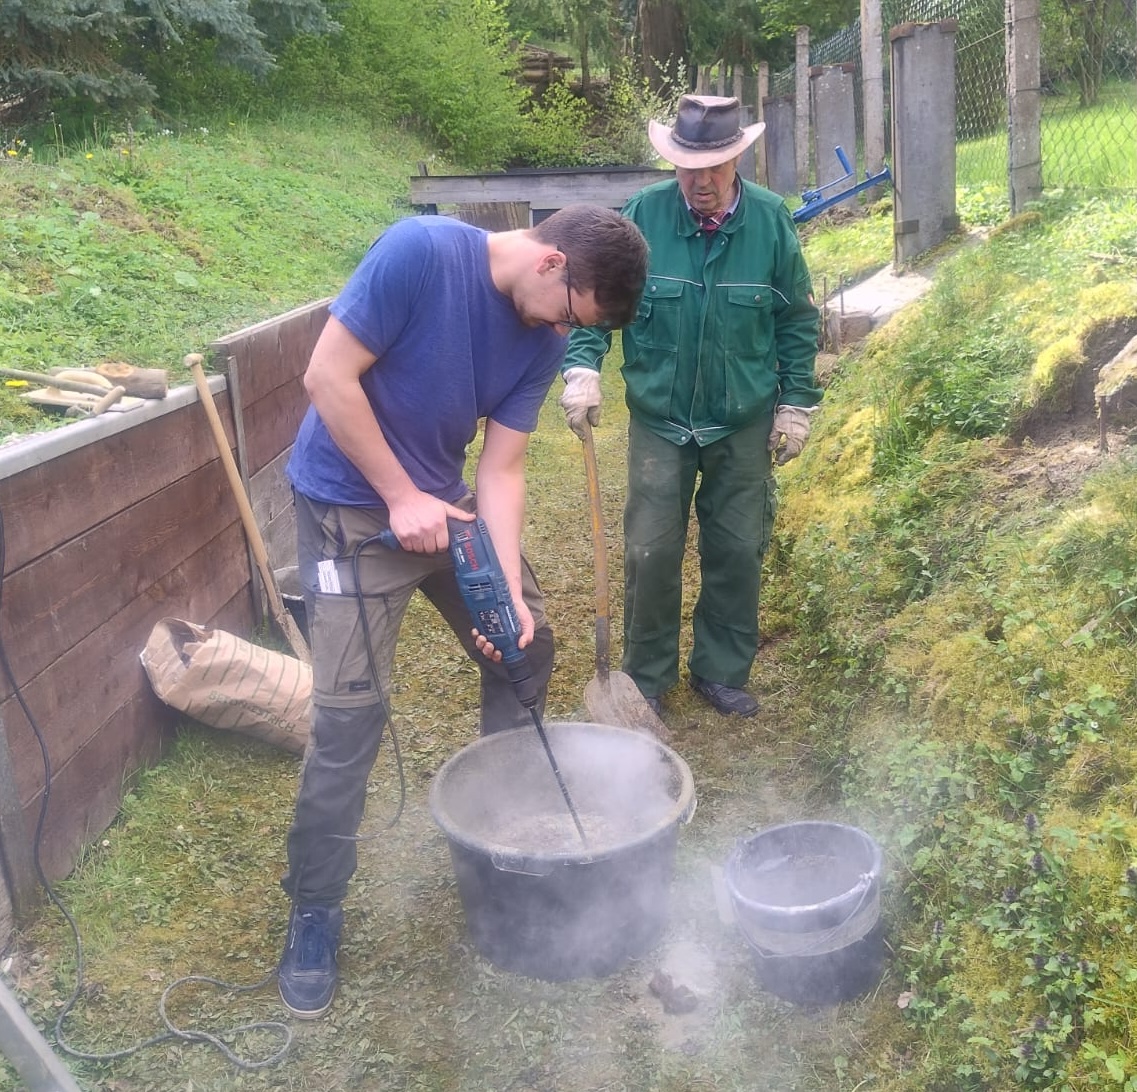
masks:
POLYGON ((447 516, 473 519, 463 471, 481 419, 476 511, 543 709, 553 630, 521 553, 529 433, 568 330, 630 322, 646 273, 642 235, 611 209, 570 206, 495 233, 421 216, 384 232, 330 307, 288 464, 313 653, 312 739, 282 879, 292 912, 279 981, 294 1016, 323 1015, 335 993, 341 903, 416 589, 481 669, 481 730, 529 722, 500 653, 479 651, 448 552, 447 516), (402 549, 374 540, 387 529, 402 549))

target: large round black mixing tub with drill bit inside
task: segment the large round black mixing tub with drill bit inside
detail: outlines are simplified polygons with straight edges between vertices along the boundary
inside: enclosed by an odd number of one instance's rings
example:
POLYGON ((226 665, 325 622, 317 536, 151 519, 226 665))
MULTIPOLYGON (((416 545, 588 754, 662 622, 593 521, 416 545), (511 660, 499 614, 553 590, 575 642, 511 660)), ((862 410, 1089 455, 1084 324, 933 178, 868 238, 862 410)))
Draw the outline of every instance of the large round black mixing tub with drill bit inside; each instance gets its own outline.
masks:
POLYGON ((546 729, 588 845, 529 728, 483 736, 449 759, 431 785, 431 812, 482 956, 533 978, 598 977, 659 938, 695 785, 687 763, 642 733, 546 729))

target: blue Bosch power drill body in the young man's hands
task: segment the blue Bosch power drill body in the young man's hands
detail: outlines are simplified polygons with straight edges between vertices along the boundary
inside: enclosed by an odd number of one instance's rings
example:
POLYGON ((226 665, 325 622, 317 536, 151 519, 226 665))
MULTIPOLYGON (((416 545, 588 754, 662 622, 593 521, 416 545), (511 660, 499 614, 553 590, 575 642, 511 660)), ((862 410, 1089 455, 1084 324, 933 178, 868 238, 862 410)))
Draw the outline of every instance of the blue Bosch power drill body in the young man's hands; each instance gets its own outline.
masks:
MULTIPOLYGON (((529 670, 529 656, 517 644, 521 622, 485 521, 478 518, 466 522, 449 516, 446 523, 450 531, 450 557, 462 601, 478 631, 501 653, 501 662, 517 701, 525 709, 533 710, 538 698, 537 680, 529 670)), ((383 531, 380 541, 399 548, 393 531, 383 531)))

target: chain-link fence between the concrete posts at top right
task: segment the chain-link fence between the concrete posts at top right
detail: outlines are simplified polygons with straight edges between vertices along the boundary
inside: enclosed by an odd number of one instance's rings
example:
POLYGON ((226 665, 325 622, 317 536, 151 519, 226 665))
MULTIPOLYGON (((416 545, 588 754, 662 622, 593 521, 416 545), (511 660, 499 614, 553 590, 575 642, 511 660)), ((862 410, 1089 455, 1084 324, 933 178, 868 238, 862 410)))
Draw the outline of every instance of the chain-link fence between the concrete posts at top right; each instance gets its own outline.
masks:
MULTIPOLYGON (((888 33, 905 23, 956 23, 956 172, 960 185, 1006 185, 1006 14, 999 0, 883 0, 885 140, 890 139, 888 33)), ((1135 0, 1043 0, 1043 184, 1137 185, 1135 0)), ((852 64, 863 132, 861 23, 810 44, 810 65, 852 64)), ((796 67, 770 74, 772 98, 792 96, 796 67)), ((750 99, 753 101, 753 99, 750 99)))

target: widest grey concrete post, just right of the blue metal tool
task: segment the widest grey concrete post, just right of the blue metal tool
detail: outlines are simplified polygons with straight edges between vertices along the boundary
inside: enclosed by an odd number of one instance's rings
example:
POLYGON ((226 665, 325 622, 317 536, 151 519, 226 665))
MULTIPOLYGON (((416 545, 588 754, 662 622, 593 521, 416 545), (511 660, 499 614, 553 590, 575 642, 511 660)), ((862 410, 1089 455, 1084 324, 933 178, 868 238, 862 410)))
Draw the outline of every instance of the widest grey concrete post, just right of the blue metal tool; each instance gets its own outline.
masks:
POLYGON ((958 230, 955 212, 955 19, 893 28, 893 264, 958 230))

